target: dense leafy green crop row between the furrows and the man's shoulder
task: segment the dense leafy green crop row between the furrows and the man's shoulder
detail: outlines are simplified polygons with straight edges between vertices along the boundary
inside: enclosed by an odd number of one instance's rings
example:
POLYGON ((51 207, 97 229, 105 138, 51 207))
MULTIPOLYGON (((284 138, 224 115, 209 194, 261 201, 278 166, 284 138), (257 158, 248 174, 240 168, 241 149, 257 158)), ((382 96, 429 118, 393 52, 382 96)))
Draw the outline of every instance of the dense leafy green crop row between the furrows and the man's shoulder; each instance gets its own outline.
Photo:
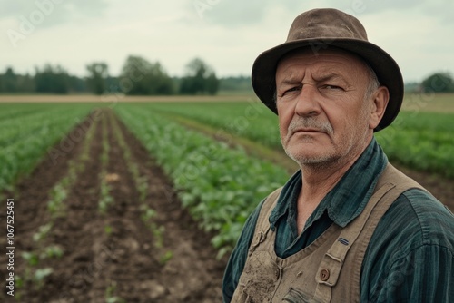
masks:
POLYGON ((260 200, 289 178, 280 167, 192 132, 151 108, 121 104, 115 112, 173 180, 194 219, 218 233, 212 243, 220 254, 232 249, 260 200))

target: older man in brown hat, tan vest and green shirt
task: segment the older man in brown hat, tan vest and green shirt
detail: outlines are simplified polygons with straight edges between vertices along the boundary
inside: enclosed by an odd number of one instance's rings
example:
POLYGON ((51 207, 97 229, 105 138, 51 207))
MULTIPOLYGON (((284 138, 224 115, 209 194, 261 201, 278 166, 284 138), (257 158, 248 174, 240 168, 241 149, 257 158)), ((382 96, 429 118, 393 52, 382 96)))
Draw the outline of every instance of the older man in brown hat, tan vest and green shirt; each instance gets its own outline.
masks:
POLYGON ((246 221, 224 302, 449 302, 454 216, 375 141, 403 98, 399 66, 334 9, 299 15, 252 85, 301 170, 246 221))

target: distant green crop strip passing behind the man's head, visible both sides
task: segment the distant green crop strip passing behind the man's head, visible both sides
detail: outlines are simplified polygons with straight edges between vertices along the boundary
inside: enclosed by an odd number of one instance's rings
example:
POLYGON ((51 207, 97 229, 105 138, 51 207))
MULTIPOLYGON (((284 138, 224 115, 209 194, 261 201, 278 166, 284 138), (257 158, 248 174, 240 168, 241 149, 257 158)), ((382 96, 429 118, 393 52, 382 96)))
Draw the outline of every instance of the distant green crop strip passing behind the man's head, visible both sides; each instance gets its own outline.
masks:
MULTIPOLYGON (((260 103, 150 103, 154 111, 178 115, 281 148, 277 117, 260 103)), ((454 179, 454 113, 400 112, 376 133, 390 161, 454 179)))

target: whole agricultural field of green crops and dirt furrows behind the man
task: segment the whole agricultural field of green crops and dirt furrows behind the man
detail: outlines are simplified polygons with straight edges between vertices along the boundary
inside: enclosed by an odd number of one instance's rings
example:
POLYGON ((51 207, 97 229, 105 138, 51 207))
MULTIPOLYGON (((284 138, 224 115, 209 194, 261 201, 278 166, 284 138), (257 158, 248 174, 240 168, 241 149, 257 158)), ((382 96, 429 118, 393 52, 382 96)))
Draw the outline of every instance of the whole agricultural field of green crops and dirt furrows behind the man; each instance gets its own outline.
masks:
MULTIPOLYGON (((377 133, 390 161, 444 203, 449 100, 409 99, 377 133)), ((0 103, 0 195, 15 200, 15 299, 0 301, 220 301, 242 224, 297 169, 276 116, 252 99, 53 101, 0 103)))

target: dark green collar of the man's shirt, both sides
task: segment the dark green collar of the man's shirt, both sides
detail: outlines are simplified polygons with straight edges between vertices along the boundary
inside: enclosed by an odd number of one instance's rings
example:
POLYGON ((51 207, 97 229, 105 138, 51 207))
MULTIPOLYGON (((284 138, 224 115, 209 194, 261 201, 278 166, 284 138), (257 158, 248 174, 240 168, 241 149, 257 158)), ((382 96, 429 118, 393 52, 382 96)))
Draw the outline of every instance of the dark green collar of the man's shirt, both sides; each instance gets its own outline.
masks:
MULTIPOLYGON (((360 158, 342 176, 341 180, 321 200, 319 206, 311 214, 306 223, 310 226, 313 221, 320 219, 323 212, 336 224, 345 227, 351 220, 360 215, 374 191, 388 159, 380 145, 372 138, 369 146, 362 152, 360 158)), ((296 202, 301 191, 301 170, 297 171, 285 183, 274 210, 271 212, 271 230, 275 230, 277 221, 282 216, 296 216, 296 202)))

